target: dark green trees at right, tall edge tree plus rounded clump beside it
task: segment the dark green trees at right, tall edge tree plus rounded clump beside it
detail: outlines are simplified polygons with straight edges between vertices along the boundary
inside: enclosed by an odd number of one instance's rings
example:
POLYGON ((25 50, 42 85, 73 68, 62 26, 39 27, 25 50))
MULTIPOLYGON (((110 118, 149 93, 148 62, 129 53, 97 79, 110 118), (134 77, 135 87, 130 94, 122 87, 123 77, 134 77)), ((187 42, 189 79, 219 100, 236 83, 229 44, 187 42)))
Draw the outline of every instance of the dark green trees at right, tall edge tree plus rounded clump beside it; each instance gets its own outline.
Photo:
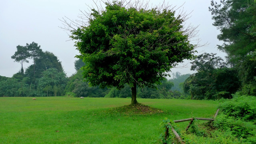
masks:
POLYGON ((192 62, 197 70, 184 82, 191 99, 232 98, 232 94, 256 96, 256 3, 253 0, 211 1, 213 25, 220 29, 218 49, 226 52, 224 63, 215 54, 201 54, 192 62))

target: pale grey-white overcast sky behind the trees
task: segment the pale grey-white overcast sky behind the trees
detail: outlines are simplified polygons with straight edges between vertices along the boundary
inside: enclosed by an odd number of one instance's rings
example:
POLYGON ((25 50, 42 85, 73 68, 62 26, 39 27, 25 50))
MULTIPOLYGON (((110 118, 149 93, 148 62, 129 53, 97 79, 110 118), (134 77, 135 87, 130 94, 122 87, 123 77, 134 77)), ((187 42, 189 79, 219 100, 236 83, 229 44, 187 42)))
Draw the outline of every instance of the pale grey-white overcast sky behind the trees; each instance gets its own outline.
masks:
MULTIPOLYGON (((144 0, 145 1, 145 0, 144 0)), ((150 0, 150 4, 159 4, 162 0, 150 0)), ((190 13, 187 24, 198 26, 200 44, 207 46, 197 49, 198 54, 204 52, 217 53, 224 58, 225 54, 217 50, 216 45, 222 44, 216 38, 219 31, 212 26, 213 20, 208 11, 210 0, 165 0, 172 6, 182 6, 186 13, 190 13)), ((67 76, 76 72, 74 61, 79 54, 63 29, 59 19, 66 16, 78 19, 80 10, 87 10, 88 6, 95 6, 92 0, 2 0, 0 3, 0 76, 12 77, 17 73, 21 64, 14 62, 11 56, 16 52, 16 46, 26 46, 26 43, 38 43, 43 51, 55 54, 62 62, 67 76)), ((188 64, 186 61, 184 64, 188 64)), ((24 64, 27 68, 32 64, 24 64)), ((180 66, 183 66, 180 64, 180 66)), ((173 68, 172 72, 182 74, 194 73, 190 71, 189 64, 182 68, 173 68)))

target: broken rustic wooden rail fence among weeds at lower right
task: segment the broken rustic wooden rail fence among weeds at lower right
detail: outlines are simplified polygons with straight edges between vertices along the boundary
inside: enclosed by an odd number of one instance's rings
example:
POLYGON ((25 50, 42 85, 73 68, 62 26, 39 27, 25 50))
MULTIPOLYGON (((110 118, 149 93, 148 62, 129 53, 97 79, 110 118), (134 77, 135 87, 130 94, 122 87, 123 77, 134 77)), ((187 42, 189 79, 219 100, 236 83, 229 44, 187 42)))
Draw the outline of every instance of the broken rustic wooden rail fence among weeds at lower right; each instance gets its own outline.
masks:
MULTIPOLYGON (((218 110, 216 111, 216 113, 214 114, 214 118, 186 118, 186 119, 182 119, 182 120, 174 120, 173 122, 175 123, 178 123, 178 122, 186 122, 186 121, 190 121, 188 126, 186 127, 186 131, 188 130, 188 128, 190 127, 190 125, 192 124, 192 122, 194 120, 209 120, 209 121, 213 121, 218 113, 219 113, 220 109, 218 108, 218 110)), ((183 141, 182 141, 182 138, 179 136, 179 134, 176 132, 176 130, 174 130, 174 128, 172 127, 172 125, 170 123, 168 123, 168 125, 171 126, 171 129, 172 129, 172 132, 174 133, 175 137, 179 140, 179 142, 181 144, 185 144, 183 141)), ((166 140, 167 138, 169 137, 169 128, 168 126, 166 126, 166 131, 165 131, 165 136, 164 136, 164 139, 166 140)))

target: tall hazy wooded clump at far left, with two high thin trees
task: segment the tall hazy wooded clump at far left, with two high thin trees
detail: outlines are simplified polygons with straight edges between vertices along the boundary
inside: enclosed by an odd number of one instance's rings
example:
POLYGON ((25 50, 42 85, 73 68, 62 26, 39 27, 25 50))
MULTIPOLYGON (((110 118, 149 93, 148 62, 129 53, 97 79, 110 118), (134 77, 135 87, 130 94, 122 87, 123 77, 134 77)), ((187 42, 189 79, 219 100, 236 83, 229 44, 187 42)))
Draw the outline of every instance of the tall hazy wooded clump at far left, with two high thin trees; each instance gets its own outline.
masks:
POLYGON ((37 43, 32 42, 26 46, 17 46, 12 56, 17 62, 33 64, 26 68, 23 66, 12 78, 0 77, 0 96, 60 96, 64 94, 66 74, 61 62, 52 52, 43 52, 37 43))

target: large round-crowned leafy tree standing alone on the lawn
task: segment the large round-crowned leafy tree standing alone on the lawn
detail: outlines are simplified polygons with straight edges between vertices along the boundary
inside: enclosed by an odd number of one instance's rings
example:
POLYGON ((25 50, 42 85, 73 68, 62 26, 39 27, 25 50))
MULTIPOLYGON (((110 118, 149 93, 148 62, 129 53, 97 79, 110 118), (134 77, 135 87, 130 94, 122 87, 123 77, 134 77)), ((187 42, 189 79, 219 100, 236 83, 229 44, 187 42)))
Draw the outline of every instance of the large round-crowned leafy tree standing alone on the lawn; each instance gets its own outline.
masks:
POLYGON ((174 16, 169 6, 148 9, 138 2, 106 2, 103 10, 86 15, 88 25, 70 26, 75 46, 86 63, 84 78, 91 86, 132 90, 131 104, 137 104, 136 87, 155 87, 167 72, 184 59, 192 59, 195 45, 189 36, 194 29, 182 26, 185 15, 174 16), (91 16, 91 17, 90 17, 91 16))

